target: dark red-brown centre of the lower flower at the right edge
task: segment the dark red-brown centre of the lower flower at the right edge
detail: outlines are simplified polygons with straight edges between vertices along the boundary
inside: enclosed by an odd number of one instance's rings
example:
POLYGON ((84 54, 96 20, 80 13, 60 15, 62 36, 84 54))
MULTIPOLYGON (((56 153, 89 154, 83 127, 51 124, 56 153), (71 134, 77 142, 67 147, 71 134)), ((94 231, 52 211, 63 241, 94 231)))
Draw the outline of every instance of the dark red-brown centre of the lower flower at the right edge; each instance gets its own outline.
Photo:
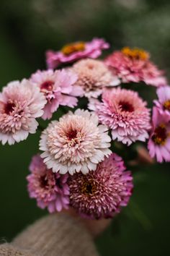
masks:
POLYGON ((165 124, 160 124, 158 127, 156 127, 152 140, 157 145, 165 145, 167 137, 168 137, 168 134, 166 132, 165 124))

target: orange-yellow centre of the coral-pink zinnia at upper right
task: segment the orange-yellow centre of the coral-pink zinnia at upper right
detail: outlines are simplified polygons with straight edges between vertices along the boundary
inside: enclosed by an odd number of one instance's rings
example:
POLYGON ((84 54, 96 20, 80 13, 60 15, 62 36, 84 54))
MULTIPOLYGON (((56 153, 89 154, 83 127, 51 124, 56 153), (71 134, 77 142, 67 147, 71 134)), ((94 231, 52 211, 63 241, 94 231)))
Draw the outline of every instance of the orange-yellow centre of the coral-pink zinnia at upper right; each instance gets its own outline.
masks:
POLYGON ((122 54, 125 56, 128 56, 130 59, 140 59, 143 61, 146 61, 149 59, 149 54, 147 51, 143 51, 142 49, 139 48, 129 48, 129 47, 124 47, 122 48, 122 54))

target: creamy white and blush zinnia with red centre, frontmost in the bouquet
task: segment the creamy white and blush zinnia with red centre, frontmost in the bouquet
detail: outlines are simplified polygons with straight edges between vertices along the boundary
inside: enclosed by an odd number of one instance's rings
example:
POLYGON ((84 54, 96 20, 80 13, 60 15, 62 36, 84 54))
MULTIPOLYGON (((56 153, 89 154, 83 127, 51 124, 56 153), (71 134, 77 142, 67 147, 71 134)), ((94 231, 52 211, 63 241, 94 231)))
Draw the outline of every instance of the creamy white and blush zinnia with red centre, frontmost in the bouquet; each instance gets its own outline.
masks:
POLYGON ((111 153, 107 127, 98 124, 96 114, 81 109, 52 121, 40 140, 48 168, 60 174, 95 171, 97 163, 111 153))

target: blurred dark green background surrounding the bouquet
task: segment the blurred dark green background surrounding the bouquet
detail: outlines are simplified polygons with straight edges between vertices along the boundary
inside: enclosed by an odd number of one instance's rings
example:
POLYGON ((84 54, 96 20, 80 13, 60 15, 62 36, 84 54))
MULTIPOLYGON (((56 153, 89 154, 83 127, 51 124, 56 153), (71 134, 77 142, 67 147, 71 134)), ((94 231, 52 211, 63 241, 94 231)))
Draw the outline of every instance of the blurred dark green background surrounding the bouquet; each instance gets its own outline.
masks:
MULTIPOLYGON (((48 48, 94 36, 109 41, 111 50, 145 48, 170 78, 169 14, 169 0, 1 0, 0 88, 45 69, 48 48)), ((37 132, 19 144, 0 145, 1 241, 11 241, 46 214, 29 199, 25 180, 39 137, 37 132)), ((138 166, 128 208, 96 240, 102 256, 170 255, 169 167, 169 163, 138 166)))

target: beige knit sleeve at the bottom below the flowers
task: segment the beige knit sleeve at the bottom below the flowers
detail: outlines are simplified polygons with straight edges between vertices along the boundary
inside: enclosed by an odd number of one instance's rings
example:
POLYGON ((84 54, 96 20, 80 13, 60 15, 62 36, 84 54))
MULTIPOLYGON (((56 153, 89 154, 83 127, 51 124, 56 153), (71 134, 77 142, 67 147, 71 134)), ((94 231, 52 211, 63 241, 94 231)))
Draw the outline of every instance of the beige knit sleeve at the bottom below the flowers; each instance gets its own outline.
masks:
MULTIPOLYGON (((0 256, 97 256, 89 232, 67 214, 50 215, 35 222, 12 244, 0 246, 0 256)), ((99 255, 98 255, 99 256, 99 255)))

